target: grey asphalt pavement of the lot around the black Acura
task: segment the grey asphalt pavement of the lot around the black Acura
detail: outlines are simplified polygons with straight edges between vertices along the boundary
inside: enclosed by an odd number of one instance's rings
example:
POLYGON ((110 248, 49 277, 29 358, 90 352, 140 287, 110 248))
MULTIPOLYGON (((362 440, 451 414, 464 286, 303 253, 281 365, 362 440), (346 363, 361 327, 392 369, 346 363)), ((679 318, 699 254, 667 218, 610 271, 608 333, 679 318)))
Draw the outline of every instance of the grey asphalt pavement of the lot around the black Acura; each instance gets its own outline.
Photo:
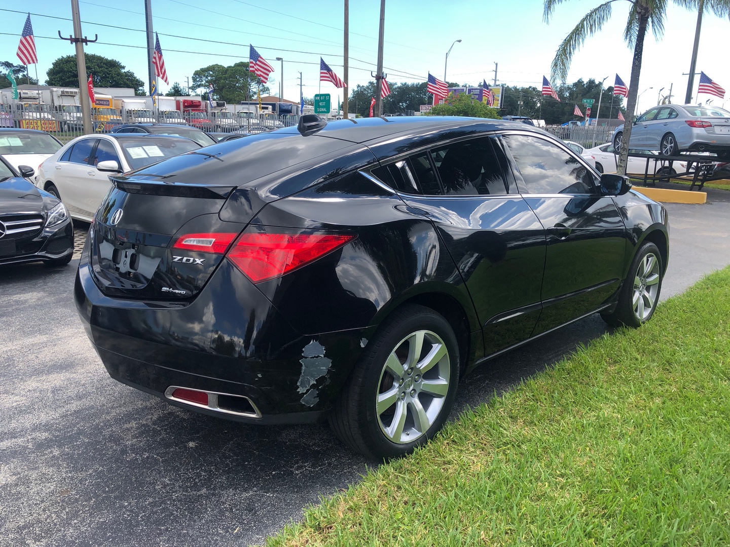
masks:
MULTIPOLYGON (((664 299, 730 263, 730 203, 667 208, 664 299)), ((260 543, 370 465, 326 425, 227 422, 110 379, 74 309, 76 265, 0 268, 0 546, 260 543)), ((452 416, 607 332, 594 315, 489 362, 452 416)))

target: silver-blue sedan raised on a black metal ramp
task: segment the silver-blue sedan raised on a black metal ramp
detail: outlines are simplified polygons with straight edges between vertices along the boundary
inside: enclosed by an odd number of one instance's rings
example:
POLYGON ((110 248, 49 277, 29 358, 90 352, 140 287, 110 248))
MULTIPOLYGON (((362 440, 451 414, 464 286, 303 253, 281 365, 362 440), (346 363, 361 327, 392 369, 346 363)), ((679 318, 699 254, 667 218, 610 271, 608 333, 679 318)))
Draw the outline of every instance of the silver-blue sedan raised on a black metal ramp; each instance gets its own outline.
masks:
MULTIPOLYGON (((616 150, 621 150, 622 141, 623 125, 619 125, 612 139, 616 150)), ((631 148, 658 150, 665 156, 714 152, 720 159, 730 159, 730 112, 692 104, 655 106, 634 122, 631 148)))

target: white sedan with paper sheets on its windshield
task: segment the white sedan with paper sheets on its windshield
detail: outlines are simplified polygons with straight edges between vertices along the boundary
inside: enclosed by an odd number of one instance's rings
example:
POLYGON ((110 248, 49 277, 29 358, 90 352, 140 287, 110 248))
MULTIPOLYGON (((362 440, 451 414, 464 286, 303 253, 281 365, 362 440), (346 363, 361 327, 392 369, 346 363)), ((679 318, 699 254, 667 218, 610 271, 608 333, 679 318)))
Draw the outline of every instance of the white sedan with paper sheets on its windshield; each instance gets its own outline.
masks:
POLYGON ((38 169, 36 185, 64 202, 74 219, 91 222, 119 174, 201 148, 172 135, 106 133, 70 141, 38 169))

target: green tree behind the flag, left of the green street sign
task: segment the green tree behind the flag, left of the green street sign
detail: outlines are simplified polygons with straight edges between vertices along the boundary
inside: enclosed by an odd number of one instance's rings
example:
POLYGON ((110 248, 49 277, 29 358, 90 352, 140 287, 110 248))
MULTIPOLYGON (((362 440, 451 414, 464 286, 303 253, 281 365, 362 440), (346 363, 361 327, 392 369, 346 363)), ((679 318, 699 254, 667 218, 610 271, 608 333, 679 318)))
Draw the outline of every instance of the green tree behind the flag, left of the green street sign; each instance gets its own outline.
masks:
POLYGON ((213 86, 213 98, 226 103, 255 101, 259 89, 262 96, 269 93, 269 87, 261 84, 261 79, 248 70, 247 61, 232 66, 205 66, 193 72, 193 88, 207 90, 210 85, 213 86))

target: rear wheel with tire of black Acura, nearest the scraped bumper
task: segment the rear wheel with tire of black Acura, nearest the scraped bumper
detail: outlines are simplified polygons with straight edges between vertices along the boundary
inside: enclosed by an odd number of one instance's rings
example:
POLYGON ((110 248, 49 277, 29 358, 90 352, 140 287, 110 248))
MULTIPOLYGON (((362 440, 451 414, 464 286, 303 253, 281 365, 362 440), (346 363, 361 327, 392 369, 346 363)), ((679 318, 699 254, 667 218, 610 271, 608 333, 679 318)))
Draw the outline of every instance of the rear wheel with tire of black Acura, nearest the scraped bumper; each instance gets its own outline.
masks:
POLYGON ((443 426, 458 379, 458 343, 447 320, 424 306, 404 306, 369 340, 330 425, 367 457, 410 454, 443 426))

